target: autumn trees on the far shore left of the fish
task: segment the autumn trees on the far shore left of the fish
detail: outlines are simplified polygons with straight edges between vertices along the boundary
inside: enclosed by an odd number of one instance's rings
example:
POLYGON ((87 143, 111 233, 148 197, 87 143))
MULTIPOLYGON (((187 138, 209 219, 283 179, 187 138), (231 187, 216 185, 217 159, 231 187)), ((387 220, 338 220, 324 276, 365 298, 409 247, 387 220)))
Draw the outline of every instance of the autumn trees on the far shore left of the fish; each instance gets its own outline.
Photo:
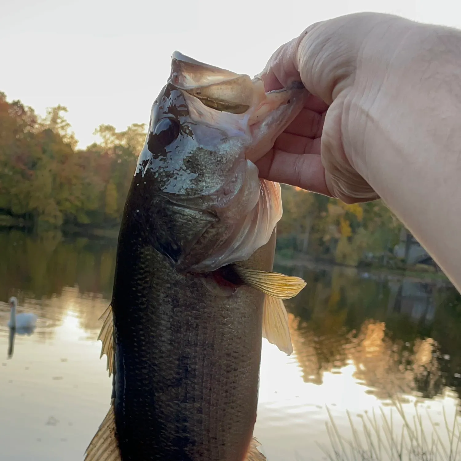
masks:
POLYGON ((57 106, 40 118, 0 93, 0 211, 42 227, 116 224, 145 127, 100 125, 102 141, 77 150, 65 112, 57 106))

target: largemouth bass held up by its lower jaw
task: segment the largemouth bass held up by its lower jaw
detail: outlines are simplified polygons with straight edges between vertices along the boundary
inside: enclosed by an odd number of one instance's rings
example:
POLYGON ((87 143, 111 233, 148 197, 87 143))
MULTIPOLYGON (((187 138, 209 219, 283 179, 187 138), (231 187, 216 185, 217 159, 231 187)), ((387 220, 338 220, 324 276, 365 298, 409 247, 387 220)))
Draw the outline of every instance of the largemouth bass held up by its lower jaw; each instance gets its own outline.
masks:
POLYGON ((281 300, 305 283, 271 272, 280 186, 251 160, 305 96, 173 54, 124 207, 100 333, 112 403, 86 461, 265 459, 261 336, 291 353, 281 300))

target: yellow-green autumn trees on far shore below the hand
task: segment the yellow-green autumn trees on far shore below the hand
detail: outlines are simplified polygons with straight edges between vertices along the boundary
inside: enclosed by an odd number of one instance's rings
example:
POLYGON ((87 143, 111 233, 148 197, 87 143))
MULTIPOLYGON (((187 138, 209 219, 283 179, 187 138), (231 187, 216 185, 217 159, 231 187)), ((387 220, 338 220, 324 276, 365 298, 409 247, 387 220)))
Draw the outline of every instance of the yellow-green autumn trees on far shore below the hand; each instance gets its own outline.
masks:
POLYGON ((291 186, 282 190, 279 248, 291 241, 303 254, 356 266, 364 254, 387 254, 397 243, 402 224, 382 201, 347 205, 291 186))

